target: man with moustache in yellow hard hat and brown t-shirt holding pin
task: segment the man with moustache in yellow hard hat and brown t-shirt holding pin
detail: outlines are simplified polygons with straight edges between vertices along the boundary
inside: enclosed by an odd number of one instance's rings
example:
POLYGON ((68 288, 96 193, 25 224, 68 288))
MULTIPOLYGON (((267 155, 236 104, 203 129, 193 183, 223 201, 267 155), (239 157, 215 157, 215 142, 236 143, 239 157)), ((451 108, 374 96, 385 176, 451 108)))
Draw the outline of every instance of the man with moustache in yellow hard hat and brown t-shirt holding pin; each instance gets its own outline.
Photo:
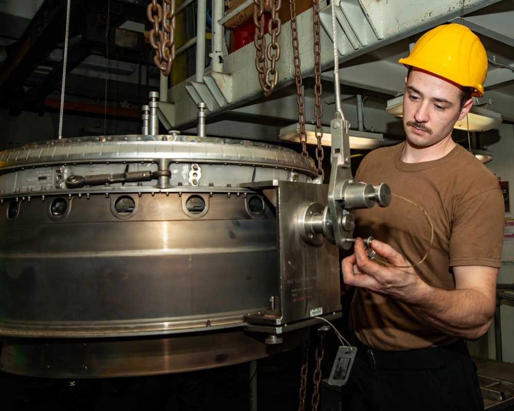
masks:
POLYGON ((356 287, 349 326, 358 347, 343 409, 483 409, 464 340, 487 332, 494 314, 503 197, 451 135, 471 96, 483 96, 487 55, 469 29, 449 24, 427 32, 400 63, 409 68, 406 142, 371 152, 356 174, 386 181, 393 200, 356 212, 358 234, 376 240, 372 250, 357 240, 342 261, 344 283, 356 287), (413 203, 433 223, 431 247, 430 222, 413 203))

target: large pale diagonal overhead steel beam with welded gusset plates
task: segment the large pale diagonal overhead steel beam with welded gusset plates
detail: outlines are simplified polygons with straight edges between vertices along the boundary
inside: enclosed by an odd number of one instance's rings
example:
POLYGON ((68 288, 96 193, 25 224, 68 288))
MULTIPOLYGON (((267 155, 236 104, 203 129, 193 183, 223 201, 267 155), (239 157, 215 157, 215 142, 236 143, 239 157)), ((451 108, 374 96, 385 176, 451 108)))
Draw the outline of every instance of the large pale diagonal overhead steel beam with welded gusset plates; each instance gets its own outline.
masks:
MULTIPOLYGON (((499 1, 467 0, 464 13, 499 1)), ((320 5, 320 18, 325 27, 325 33, 322 34, 321 39, 323 69, 334 65, 331 6, 327 6, 326 3, 325 0, 320 5)), ((387 0, 345 0, 338 5, 337 9, 339 62, 348 61, 358 55, 448 22, 463 12, 462 0, 440 0, 436 4, 433 2, 405 4, 387 0)), ((314 72, 312 19, 313 11, 311 9, 297 16, 301 70, 304 78, 314 72)), ((270 36, 266 37, 267 43, 269 43, 270 36)), ((291 29, 288 24, 285 24, 282 26, 279 38, 281 57, 276 65, 279 71, 276 88, 293 83, 295 78, 290 39, 291 29)), ((248 44, 225 56, 223 74, 231 76, 232 101, 220 107, 215 99, 213 99, 214 101, 210 100, 212 110, 208 110, 208 118, 263 96, 255 70, 255 47, 253 44, 248 44)), ((175 109, 170 111, 174 113, 174 118, 168 119, 168 121, 175 128, 188 128, 196 122, 196 103, 189 98, 186 91, 186 84, 191 81, 192 79, 188 79, 170 89, 169 101, 175 104, 175 109)))

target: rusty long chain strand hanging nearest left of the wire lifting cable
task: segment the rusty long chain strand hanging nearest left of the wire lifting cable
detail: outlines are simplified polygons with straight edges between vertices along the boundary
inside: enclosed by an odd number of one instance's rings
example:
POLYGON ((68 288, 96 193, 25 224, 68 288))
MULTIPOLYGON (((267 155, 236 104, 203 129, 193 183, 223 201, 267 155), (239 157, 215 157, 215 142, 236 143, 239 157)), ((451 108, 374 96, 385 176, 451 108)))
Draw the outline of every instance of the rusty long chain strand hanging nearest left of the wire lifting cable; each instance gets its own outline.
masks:
POLYGON ((325 154, 323 147, 321 146, 321 139, 323 137, 323 127, 321 126, 321 116, 323 114, 323 108, 321 106, 321 36, 320 36, 320 6, 319 0, 313 0, 314 3, 314 94, 316 95, 316 105, 314 108, 314 114, 316 116, 316 140, 318 141, 318 147, 316 148, 316 160, 318 161, 318 175, 321 176, 322 181, 325 179, 325 173, 323 172, 323 158, 325 154))

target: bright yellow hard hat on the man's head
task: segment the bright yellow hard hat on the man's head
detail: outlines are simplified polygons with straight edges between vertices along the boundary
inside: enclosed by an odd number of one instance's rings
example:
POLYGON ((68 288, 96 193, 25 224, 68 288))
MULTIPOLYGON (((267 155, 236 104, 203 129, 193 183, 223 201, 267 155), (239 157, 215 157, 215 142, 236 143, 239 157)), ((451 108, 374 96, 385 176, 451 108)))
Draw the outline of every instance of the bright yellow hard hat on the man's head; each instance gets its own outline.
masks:
POLYGON ((400 59, 399 63, 470 87, 473 97, 484 95, 485 48, 478 36, 460 24, 446 24, 426 32, 416 42, 409 57, 400 59))

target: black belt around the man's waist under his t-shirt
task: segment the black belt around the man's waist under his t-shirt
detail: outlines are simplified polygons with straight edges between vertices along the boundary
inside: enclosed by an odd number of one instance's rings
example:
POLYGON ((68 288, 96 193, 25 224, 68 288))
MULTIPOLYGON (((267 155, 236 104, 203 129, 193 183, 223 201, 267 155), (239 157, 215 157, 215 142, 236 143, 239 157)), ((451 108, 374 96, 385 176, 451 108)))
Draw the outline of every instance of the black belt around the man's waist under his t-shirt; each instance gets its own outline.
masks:
POLYGON ((467 353, 463 340, 444 347, 429 347, 409 351, 383 351, 368 347, 354 338, 357 356, 368 361, 372 370, 377 369, 431 369, 442 368, 449 361, 467 353))

